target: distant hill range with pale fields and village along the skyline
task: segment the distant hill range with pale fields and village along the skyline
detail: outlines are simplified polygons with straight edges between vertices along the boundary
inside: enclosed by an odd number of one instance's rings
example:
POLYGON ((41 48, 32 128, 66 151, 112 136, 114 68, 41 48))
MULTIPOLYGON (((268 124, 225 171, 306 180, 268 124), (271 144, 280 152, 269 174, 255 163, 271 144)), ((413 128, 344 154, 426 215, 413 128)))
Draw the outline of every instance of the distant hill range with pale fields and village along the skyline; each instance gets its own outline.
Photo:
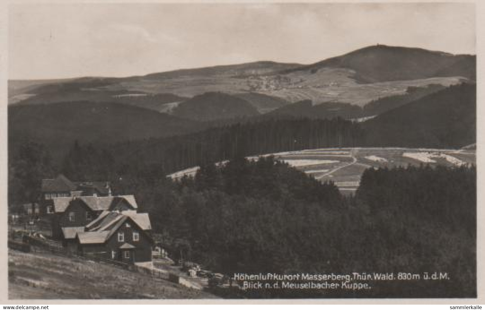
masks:
MULTIPOLYGON (((430 84, 448 87, 473 81, 475 61, 473 55, 377 45, 310 65, 258 61, 124 78, 11 81, 9 103, 113 102, 112 97, 120 94, 169 93, 191 98, 206 92, 225 92, 261 94, 288 102, 308 99, 315 104, 338 102, 363 106, 383 97, 404 94, 409 87, 430 84), (110 100, 99 99, 107 95, 110 100)), ((268 103, 264 104, 258 99, 262 113, 276 107, 274 100, 266 99, 268 103)), ((143 106, 142 103, 143 100, 130 102, 138 106, 143 106)), ((151 103, 145 107, 160 110, 151 103)), ((166 111, 166 107, 161 109, 166 111)))

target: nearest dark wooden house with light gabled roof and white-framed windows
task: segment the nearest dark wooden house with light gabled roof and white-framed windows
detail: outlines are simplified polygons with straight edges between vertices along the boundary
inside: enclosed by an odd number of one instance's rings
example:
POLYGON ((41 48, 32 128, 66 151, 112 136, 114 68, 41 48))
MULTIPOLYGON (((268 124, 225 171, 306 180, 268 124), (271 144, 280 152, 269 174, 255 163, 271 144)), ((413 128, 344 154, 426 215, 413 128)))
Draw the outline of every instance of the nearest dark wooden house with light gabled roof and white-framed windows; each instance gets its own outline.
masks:
POLYGON ((77 250, 129 264, 152 260, 151 224, 147 213, 104 211, 76 233, 77 250))

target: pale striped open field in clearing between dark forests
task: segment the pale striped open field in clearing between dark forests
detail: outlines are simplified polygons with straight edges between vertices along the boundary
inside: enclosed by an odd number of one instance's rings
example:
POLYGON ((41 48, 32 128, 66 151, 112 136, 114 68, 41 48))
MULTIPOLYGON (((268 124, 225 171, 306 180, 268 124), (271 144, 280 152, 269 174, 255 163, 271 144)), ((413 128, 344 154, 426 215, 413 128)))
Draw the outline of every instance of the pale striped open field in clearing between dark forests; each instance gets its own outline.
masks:
MULTIPOLYGON (((396 167, 407 165, 447 165, 460 166, 475 164, 475 150, 427 149, 427 148, 321 148, 302 151, 265 154, 287 162, 325 182, 333 181, 344 193, 353 193, 359 186, 360 177, 369 167, 396 167)), ((256 156, 248 157, 255 160, 256 156)), ((198 167, 179 171, 170 175, 180 178, 194 176, 198 167)))

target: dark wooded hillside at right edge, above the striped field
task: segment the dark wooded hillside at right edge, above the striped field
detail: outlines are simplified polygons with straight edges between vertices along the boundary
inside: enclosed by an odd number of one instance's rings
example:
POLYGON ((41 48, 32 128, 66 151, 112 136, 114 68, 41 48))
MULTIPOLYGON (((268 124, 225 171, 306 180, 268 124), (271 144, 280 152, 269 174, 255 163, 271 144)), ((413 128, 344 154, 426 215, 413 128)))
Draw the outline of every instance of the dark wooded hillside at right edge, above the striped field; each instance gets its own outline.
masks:
POLYGON ((461 148, 476 142, 476 85, 451 86, 362 123, 366 144, 461 148))

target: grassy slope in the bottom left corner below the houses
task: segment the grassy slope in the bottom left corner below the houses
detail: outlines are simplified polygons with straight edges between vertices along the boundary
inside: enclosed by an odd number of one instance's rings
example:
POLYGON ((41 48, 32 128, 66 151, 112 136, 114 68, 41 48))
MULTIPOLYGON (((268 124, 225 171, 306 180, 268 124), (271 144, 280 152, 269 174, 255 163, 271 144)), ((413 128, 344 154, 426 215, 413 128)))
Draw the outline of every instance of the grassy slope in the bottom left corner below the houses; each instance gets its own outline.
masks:
POLYGON ((215 298, 206 292, 91 261, 12 250, 8 258, 9 299, 215 298))

